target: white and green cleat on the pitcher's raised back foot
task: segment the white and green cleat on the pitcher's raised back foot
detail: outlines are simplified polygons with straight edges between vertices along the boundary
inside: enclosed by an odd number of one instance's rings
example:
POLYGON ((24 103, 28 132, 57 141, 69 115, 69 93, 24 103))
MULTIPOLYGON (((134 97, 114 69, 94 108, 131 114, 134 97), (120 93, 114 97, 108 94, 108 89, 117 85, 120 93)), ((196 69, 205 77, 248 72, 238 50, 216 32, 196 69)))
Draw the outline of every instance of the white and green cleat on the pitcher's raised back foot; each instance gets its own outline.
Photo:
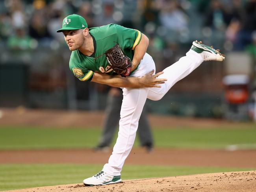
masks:
POLYGON ((207 46, 202 44, 202 41, 193 41, 191 50, 201 55, 204 61, 223 61, 225 55, 219 52, 219 49, 215 50, 213 46, 207 46))

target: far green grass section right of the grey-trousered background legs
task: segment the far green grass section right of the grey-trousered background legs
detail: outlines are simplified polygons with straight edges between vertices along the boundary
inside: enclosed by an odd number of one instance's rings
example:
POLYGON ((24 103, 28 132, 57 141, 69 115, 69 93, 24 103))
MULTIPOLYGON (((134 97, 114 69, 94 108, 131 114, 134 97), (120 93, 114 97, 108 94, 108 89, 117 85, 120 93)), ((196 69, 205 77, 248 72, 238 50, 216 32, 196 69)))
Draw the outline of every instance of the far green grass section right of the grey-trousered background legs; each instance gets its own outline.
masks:
POLYGON ((166 148, 226 148, 248 144, 255 148, 255 128, 160 129, 154 130, 157 146, 166 148), (253 145, 254 144, 254 145, 253 145))

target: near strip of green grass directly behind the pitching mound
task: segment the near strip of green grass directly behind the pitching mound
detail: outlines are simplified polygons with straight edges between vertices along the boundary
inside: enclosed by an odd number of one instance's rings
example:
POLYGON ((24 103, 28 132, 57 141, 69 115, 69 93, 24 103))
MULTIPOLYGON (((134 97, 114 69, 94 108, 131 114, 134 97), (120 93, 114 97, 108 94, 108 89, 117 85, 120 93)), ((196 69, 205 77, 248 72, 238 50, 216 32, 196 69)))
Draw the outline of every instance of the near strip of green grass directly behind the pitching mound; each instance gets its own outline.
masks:
MULTIPOLYGON (((0 164, 0 190, 82 183, 101 169, 100 164, 0 164)), ((125 165, 122 179, 249 170, 255 168, 125 165)))

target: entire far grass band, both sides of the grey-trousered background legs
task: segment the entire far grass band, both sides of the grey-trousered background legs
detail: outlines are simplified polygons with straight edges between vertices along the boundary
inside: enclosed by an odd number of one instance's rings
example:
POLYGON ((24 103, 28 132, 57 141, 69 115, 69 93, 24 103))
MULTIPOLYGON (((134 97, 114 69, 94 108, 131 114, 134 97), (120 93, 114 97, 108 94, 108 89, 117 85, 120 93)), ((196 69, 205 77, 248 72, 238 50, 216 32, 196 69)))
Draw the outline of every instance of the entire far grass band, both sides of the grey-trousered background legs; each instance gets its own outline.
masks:
MULTIPOLYGON (((0 150, 9 149, 68 149, 92 148, 99 140, 98 128, 42 128, 0 126, 0 150)), ((165 148, 225 148, 233 144, 247 144, 255 148, 256 127, 241 128, 155 128, 156 147, 165 148)), ((115 139, 113 140, 113 143, 115 139)), ((134 146, 139 146, 136 140, 134 146)))

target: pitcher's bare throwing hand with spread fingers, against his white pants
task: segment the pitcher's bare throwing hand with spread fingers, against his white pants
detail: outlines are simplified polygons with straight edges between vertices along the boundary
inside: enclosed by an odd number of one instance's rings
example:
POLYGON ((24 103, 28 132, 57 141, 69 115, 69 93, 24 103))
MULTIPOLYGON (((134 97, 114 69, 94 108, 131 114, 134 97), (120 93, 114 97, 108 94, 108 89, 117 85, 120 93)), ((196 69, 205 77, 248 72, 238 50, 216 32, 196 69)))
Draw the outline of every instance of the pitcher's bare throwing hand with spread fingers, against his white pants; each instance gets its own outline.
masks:
POLYGON ((163 71, 154 75, 153 73, 154 69, 141 78, 141 83, 143 84, 143 87, 161 87, 159 84, 163 84, 165 83, 165 81, 167 81, 167 79, 158 78, 158 76, 163 74, 163 71))

